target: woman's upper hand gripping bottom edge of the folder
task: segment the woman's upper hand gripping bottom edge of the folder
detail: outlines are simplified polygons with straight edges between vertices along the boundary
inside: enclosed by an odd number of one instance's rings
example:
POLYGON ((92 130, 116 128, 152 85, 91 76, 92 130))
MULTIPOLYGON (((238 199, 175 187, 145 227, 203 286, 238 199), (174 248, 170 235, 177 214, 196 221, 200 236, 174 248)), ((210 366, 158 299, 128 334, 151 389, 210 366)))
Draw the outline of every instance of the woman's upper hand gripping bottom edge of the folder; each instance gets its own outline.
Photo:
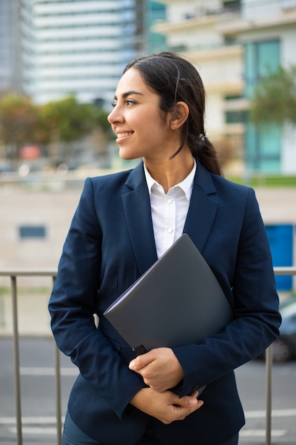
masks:
POLYGON ((128 367, 141 374, 146 385, 158 392, 175 387, 184 377, 182 367, 170 348, 155 348, 138 355, 128 367))

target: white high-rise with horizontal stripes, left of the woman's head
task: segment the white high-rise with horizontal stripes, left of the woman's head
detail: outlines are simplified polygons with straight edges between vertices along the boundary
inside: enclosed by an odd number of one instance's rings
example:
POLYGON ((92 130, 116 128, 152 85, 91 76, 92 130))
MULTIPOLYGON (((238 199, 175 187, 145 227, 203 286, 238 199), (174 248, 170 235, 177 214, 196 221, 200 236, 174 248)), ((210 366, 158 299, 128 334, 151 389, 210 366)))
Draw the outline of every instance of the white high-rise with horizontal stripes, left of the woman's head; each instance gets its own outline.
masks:
POLYGON ((75 93, 109 101, 128 60, 143 49, 143 1, 35 0, 36 102, 75 93))

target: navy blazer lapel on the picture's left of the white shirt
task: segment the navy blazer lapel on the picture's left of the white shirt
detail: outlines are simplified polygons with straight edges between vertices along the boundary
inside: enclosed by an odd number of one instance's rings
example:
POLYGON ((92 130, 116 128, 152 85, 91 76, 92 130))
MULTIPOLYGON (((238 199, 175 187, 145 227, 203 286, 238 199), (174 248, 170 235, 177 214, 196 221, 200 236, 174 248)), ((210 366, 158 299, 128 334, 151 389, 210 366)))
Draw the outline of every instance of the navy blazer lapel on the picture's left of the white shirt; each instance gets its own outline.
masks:
POLYGON ((143 274, 157 260, 150 198, 143 163, 140 163, 131 171, 126 186, 130 191, 122 195, 121 198, 133 252, 140 274, 143 274))

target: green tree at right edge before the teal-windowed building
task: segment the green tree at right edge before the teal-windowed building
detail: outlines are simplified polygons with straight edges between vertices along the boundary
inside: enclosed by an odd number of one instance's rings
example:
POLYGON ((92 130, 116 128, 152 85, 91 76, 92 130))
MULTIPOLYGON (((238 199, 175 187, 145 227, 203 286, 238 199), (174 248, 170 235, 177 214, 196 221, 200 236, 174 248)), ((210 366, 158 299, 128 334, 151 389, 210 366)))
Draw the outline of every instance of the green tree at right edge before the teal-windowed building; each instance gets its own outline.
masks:
POLYGON ((255 124, 285 122, 296 125, 296 65, 280 67, 256 86, 251 100, 251 120, 255 124))

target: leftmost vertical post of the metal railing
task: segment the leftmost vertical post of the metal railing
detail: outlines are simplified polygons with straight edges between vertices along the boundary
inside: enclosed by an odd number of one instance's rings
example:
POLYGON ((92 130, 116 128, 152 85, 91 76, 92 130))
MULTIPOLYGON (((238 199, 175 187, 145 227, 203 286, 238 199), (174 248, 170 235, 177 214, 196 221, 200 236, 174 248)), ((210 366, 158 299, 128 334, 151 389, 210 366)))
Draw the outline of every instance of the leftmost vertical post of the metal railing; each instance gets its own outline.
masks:
POLYGON ((23 445, 23 434, 21 428, 21 378, 19 360, 19 338, 18 338, 18 301, 16 289, 16 276, 11 275, 12 296, 12 318, 13 318, 13 358, 14 358, 14 387, 16 397, 16 434, 17 445, 23 445))

